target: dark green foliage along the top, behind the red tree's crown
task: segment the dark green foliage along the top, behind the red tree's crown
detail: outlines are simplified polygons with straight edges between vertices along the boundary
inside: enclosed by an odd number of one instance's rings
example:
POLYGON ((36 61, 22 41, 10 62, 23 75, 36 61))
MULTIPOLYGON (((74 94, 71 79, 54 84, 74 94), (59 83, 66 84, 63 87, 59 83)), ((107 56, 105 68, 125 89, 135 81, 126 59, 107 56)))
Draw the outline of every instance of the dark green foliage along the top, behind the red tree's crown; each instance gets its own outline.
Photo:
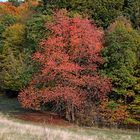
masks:
POLYGON ((129 18, 134 27, 140 26, 139 0, 44 0, 46 10, 66 8, 88 15, 98 26, 108 27, 118 16, 129 18))

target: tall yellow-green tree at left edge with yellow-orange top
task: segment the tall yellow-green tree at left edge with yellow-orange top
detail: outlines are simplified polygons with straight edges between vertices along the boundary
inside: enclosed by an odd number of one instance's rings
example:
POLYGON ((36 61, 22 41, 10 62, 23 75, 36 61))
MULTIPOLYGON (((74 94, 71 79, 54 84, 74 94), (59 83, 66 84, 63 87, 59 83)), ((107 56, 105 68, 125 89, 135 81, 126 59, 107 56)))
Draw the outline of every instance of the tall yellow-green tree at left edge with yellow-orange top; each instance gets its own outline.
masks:
POLYGON ((25 26, 14 24, 2 33, 3 48, 0 54, 0 87, 20 90, 30 80, 33 64, 24 48, 25 26))

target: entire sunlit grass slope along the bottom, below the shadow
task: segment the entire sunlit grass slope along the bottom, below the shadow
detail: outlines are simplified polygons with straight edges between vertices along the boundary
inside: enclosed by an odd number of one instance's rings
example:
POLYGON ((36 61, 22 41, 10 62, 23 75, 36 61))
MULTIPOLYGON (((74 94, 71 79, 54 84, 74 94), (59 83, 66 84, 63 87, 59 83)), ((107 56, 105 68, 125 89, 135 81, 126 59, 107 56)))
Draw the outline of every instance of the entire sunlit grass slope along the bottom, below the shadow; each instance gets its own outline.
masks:
POLYGON ((139 140, 138 133, 27 124, 0 114, 0 140, 139 140))

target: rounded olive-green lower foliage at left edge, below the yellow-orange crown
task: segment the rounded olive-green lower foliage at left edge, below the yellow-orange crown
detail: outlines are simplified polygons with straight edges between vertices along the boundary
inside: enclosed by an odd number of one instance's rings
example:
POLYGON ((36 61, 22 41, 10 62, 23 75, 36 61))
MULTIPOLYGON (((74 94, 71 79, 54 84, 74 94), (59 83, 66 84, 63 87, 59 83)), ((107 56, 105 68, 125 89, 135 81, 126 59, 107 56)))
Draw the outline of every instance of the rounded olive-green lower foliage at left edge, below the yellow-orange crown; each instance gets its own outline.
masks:
POLYGON ((33 65, 29 61, 27 54, 15 56, 11 48, 5 48, 0 59, 0 87, 2 89, 19 91, 28 84, 33 65))

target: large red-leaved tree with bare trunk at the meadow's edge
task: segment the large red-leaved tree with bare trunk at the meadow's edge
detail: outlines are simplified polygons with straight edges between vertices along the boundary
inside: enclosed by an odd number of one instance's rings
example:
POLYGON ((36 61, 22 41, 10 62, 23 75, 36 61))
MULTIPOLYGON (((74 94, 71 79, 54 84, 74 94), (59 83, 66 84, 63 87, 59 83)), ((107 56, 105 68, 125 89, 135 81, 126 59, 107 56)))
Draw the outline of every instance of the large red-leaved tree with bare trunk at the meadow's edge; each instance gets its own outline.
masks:
POLYGON ((64 10, 46 23, 51 35, 40 42, 33 59, 41 65, 29 86, 19 94, 24 108, 40 109, 48 102, 63 104, 65 117, 74 121, 76 109, 102 99, 110 91, 108 78, 100 77, 102 31, 80 16, 70 18, 64 10))

